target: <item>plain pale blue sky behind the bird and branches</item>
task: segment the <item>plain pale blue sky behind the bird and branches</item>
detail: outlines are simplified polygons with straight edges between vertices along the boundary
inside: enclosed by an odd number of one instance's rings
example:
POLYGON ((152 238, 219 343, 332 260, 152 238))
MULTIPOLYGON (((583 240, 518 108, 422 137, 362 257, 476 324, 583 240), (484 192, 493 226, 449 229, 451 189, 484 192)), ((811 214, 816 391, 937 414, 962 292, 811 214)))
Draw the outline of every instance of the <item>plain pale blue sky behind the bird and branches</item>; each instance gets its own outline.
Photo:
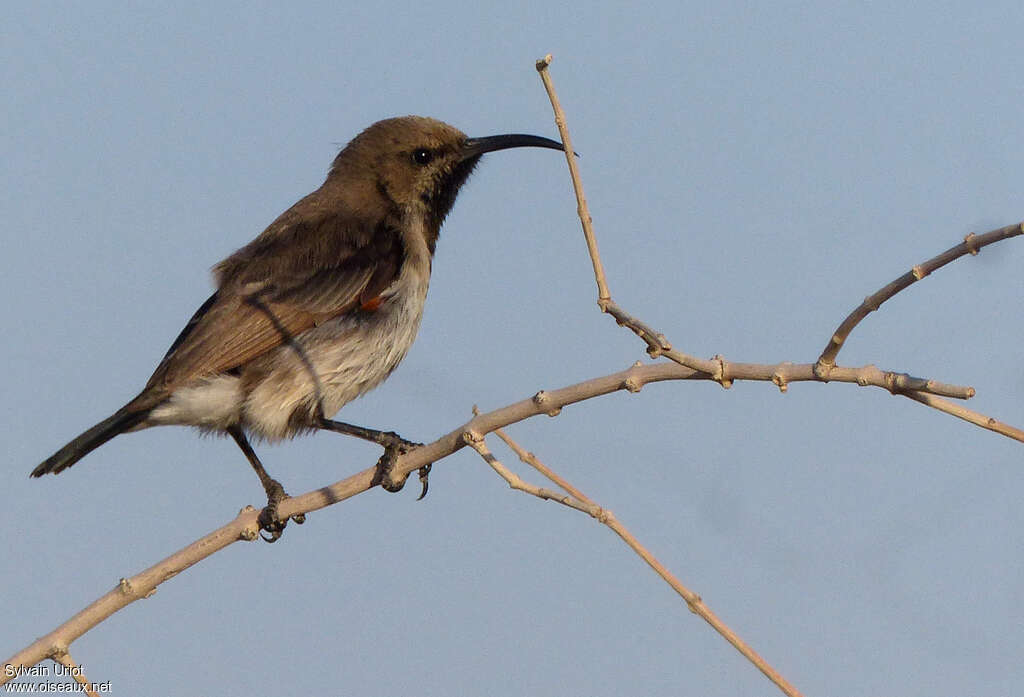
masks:
MULTIPOLYGON (((187 429, 28 473, 138 391, 210 267, 374 121, 555 136, 553 53, 612 294, 698 356, 813 361, 865 295, 1024 220, 1020 3, 32 3, 3 25, 3 657, 260 503, 233 443, 187 429)), ((841 362, 972 385, 1024 425, 1022 264, 1018 238, 942 269, 841 362)), ((564 161, 496 154, 417 344, 340 418, 432 440, 642 349, 596 310, 564 161)), ((1020 443, 838 384, 659 384, 511 434, 805 694, 1024 681, 1020 443)), ((259 451, 293 492, 378 455, 259 451)), ((232 546, 72 653, 119 694, 772 694, 609 531, 472 451, 412 488, 232 546)))

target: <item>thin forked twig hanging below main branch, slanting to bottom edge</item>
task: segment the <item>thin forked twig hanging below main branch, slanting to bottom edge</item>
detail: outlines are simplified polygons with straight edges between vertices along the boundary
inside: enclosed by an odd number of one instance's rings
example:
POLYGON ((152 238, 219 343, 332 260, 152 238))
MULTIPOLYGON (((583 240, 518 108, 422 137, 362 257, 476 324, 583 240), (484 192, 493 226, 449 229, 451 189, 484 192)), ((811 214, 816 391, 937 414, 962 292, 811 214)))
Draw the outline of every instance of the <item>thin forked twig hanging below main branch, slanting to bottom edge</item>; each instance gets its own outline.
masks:
MULTIPOLYGON (((504 433, 501 433, 500 435, 502 437, 502 440, 508 443, 513 450, 515 450, 517 453, 520 453, 520 458, 523 456, 521 453, 524 453, 525 450, 523 450, 517 443, 515 443, 515 441, 513 441, 508 435, 504 433)), ((600 506, 597 506, 590 498, 588 498, 583 494, 580 494, 579 496, 574 494, 559 494, 557 492, 551 491, 550 489, 544 489, 542 487, 523 482, 518 475, 511 472, 507 467, 505 467, 505 465, 501 463, 501 461, 499 461, 494 455, 494 453, 490 452, 490 450, 487 448, 486 443, 483 440, 482 435, 474 433, 472 431, 467 431, 463 435, 463 437, 466 440, 466 442, 469 443, 469 445, 474 450, 479 452, 480 456, 483 458, 483 460, 492 467, 492 469, 494 469, 495 472, 497 472, 506 482, 508 482, 509 486, 511 486, 513 489, 517 489, 525 493, 530 493, 535 496, 544 498, 546 500, 554 500, 556 503, 562 504, 578 511, 582 511, 583 513, 586 513, 592 518, 594 518, 594 520, 603 523, 604 525, 607 525, 609 528, 611 528, 615 532, 615 534, 617 534, 622 538, 622 540, 626 542, 631 550, 633 550, 633 552, 635 552, 641 559, 643 559, 647 563, 647 565, 650 566, 650 568, 652 568, 655 573, 657 573, 658 576, 660 576, 669 585, 672 586, 673 591, 679 594, 679 596, 686 602, 686 605, 687 607, 689 607, 691 612, 700 616, 701 619, 708 622, 719 635, 722 636, 723 639, 729 642, 749 661, 754 663, 754 665, 757 666, 757 668, 761 670, 761 672, 763 672, 765 677, 768 678, 768 680, 774 683, 779 690, 781 690, 790 697, 800 697, 800 692, 797 690, 797 688, 795 688, 792 684, 790 684, 788 681, 782 678, 782 676, 777 670, 775 670, 775 668, 773 668, 768 663, 768 661, 762 658, 761 655, 758 654, 758 652, 755 651, 746 642, 740 639, 739 636, 729 627, 729 625, 727 625, 724 621, 722 621, 718 617, 718 615, 712 612, 711 608, 705 605, 703 601, 700 599, 700 596, 698 596, 697 594, 693 593, 688 587, 683 585, 682 581, 680 581, 671 571, 669 571, 669 569, 666 568, 665 565, 662 564, 654 557, 654 555, 652 555, 647 550, 647 548, 641 544, 640 541, 635 536, 633 536, 633 533, 631 533, 626 528, 626 526, 623 525, 617 518, 615 518, 615 515, 611 511, 601 508, 600 506)), ((541 461, 538 460, 536 455, 532 455, 531 453, 527 454, 528 454, 528 463, 530 465, 537 468, 540 472, 544 473, 546 477, 548 477, 556 484, 559 484, 559 486, 561 486, 559 482, 563 482, 564 480, 560 476, 555 474, 554 471, 551 470, 551 468, 541 463, 541 461)), ((570 489, 566 488, 566 491, 570 489)), ((571 490, 577 490, 577 489, 574 487, 571 487, 571 490)))

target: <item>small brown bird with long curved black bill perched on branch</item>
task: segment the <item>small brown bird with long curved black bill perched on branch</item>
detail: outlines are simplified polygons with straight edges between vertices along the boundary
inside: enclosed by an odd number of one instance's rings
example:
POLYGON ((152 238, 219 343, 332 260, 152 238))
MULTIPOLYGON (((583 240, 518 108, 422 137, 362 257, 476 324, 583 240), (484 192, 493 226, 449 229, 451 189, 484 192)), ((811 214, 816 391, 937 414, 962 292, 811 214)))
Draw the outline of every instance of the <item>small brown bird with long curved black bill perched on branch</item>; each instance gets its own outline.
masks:
POLYGON ((112 438, 154 426, 228 435, 263 485, 261 535, 275 541, 288 523, 278 515, 288 494, 250 437, 344 433, 383 446, 385 469, 417 443, 332 417, 390 376, 412 346, 441 224, 480 158, 526 146, 564 151, 536 135, 468 137, 426 117, 368 127, 337 155, 319 188, 214 266, 216 290, 141 392, 31 476, 58 474, 112 438))

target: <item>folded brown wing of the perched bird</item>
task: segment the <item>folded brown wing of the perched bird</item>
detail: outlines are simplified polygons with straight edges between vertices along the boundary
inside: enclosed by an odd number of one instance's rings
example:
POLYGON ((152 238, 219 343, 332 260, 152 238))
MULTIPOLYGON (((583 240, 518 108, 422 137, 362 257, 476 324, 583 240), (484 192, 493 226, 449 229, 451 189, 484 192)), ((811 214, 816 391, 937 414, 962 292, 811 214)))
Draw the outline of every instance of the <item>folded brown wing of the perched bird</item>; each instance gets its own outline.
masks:
POLYGON ((188 320, 144 392, 167 394, 238 368, 367 305, 394 282, 402 261, 395 227, 293 211, 217 265, 220 288, 188 320))

